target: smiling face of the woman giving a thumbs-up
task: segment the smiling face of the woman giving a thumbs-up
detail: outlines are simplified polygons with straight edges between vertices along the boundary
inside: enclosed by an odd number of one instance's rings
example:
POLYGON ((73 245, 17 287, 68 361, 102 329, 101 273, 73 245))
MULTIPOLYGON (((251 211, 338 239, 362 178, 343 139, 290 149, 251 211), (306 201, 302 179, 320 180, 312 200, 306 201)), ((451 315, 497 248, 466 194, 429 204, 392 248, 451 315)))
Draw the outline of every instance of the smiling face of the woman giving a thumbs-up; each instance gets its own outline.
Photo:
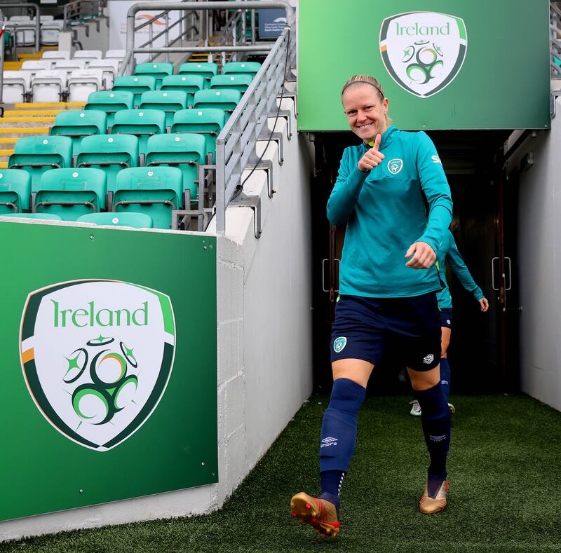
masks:
POLYGON ((342 102, 349 127, 364 142, 370 142, 388 128, 388 99, 382 100, 374 86, 353 84, 344 91, 342 102))

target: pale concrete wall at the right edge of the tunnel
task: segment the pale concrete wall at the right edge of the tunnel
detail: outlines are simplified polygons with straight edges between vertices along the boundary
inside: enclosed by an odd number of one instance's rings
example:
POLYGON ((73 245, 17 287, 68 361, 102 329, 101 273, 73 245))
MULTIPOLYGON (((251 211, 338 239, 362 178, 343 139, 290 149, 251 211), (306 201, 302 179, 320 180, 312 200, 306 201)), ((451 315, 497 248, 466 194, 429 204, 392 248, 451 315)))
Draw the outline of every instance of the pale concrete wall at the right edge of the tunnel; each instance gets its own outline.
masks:
MULTIPOLYGON (((518 172, 518 284, 521 388, 561 410, 561 102, 550 131, 522 144, 509 163, 518 172), (534 154, 534 165, 520 161, 534 154)), ((514 261, 514 260, 513 260, 514 261)))

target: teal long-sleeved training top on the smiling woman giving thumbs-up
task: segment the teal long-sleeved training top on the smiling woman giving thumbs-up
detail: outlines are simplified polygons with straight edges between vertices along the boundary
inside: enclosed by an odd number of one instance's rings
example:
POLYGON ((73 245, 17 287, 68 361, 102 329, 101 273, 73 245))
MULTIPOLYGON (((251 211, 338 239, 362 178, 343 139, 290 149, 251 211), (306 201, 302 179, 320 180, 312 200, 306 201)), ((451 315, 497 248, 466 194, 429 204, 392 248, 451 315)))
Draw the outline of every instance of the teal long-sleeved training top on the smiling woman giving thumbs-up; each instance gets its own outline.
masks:
POLYGON ((369 148, 345 149, 327 202, 330 222, 347 224, 339 294, 391 298, 442 289, 435 265, 405 266, 415 242, 438 252, 452 221, 450 187, 432 140, 392 125, 381 135, 384 161, 364 172, 357 164, 369 148))

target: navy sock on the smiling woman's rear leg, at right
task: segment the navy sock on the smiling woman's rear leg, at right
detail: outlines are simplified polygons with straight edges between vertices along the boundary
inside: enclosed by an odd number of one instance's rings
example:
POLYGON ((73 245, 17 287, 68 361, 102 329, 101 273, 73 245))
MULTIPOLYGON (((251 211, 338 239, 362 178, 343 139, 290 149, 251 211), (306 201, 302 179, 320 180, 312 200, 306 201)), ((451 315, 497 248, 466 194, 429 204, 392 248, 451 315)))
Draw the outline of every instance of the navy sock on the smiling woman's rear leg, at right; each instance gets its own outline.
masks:
POLYGON ((446 456, 450 449, 450 409, 440 381, 428 390, 415 390, 421 406, 421 425, 426 449, 431 456, 428 467, 428 494, 433 496, 446 478, 446 456))

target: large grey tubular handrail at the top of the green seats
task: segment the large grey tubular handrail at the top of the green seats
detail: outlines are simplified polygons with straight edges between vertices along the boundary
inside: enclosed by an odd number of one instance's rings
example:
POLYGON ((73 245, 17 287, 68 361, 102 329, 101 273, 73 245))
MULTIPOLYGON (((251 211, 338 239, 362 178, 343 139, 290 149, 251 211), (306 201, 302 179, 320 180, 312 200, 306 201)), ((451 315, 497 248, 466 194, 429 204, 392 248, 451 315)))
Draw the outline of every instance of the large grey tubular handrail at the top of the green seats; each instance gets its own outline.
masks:
MULTIPOLYGON (((211 11, 211 10, 230 10, 230 9, 271 9, 271 8, 284 8, 286 12, 287 21, 289 26, 292 25, 294 20, 294 11, 292 6, 285 0, 276 1, 208 1, 208 2, 158 2, 158 8, 165 11, 211 11)), ((127 38, 126 38, 126 55, 123 60, 123 65, 119 71, 119 75, 124 75, 133 72, 134 55, 137 53, 194 53, 194 52, 263 52, 271 50, 273 46, 270 43, 263 45, 244 45, 244 46, 191 46, 191 47, 167 47, 167 48, 137 48, 135 47, 135 14, 142 10, 153 10, 154 4, 149 2, 140 2, 130 6, 127 13, 127 38)))

